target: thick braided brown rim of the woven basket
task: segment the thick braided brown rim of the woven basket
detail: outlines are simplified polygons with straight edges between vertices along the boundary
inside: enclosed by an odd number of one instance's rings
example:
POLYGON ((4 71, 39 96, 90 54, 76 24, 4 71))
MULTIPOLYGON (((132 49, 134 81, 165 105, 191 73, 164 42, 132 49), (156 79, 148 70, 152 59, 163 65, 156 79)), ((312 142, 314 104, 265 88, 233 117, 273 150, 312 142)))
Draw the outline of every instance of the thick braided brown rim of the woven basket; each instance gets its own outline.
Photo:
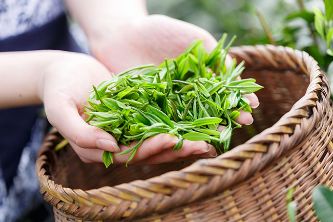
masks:
MULTIPOLYGON (((307 74, 310 82, 305 95, 272 127, 216 158, 200 159, 178 171, 113 187, 83 191, 55 184, 48 171, 50 163, 46 155, 46 152, 52 151, 53 144, 50 140, 46 141, 36 161, 40 191, 45 197, 47 195, 45 199, 69 216, 73 215, 73 218, 80 215, 75 212, 76 209, 96 206, 114 208, 108 219, 130 219, 145 213, 164 212, 239 183, 299 145, 319 122, 319 116, 325 112, 329 104, 328 79, 316 60, 306 52, 273 45, 232 47, 230 54, 236 57, 238 62, 239 59, 245 60, 245 65, 249 67, 246 69, 274 68, 298 70, 307 74), (308 110, 313 113, 308 115, 308 110), (174 189, 166 189, 170 187, 174 189), (190 192, 191 195, 186 192, 190 192), (149 201, 154 204, 147 207, 149 201), (142 210, 143 203, 145 210, 142 210), (77 206, 75 210, 70 208, 73 204, 77 206), (123 205, 122 208, 120 205, 123 205)), ((100 213, 96 218, 95 214, 85 214, 85 218, 99 219, 105 216, 100 213)))

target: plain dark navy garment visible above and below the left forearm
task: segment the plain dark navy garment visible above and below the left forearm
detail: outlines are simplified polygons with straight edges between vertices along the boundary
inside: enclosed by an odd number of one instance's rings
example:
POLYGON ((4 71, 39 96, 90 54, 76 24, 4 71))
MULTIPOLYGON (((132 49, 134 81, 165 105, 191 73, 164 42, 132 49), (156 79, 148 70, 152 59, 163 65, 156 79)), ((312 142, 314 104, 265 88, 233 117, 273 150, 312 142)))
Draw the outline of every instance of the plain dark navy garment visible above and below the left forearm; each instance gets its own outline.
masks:
MULTIPOLYGON (((45 25, 0 40, 0 52, 43 49, 81 51, 69 33, 65 13, 45 25)), ((40 106, 0 110, 0 167, 7 188, 12 184, 20 155, 40 110, 40 106)))

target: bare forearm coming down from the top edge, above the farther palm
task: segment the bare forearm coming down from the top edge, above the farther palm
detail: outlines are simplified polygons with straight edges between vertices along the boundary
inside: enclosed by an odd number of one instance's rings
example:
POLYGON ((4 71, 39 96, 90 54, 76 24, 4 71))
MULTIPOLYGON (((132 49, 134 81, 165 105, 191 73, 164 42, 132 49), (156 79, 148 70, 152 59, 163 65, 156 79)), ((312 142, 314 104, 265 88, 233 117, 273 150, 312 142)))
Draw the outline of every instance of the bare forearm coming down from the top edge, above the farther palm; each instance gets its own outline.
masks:
MULTIPOLYGON (((148 15, 145 0, 64 0, 70 15, 82 26, 89 39, 116 29, 123 22, 148 15)), ((108 32, 110 33, 110 32, 108 32)))

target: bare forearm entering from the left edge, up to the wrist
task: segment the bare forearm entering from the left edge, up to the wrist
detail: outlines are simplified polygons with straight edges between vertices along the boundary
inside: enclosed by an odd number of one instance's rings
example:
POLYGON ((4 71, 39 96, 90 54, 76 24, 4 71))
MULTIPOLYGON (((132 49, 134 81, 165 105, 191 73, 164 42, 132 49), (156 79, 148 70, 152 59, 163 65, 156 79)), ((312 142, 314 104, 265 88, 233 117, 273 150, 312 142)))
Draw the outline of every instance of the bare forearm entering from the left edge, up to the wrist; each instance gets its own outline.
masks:
POLYGON ((42 103, 44 71, 64 52, 52 50, 0 53, 0 108, 42 103))

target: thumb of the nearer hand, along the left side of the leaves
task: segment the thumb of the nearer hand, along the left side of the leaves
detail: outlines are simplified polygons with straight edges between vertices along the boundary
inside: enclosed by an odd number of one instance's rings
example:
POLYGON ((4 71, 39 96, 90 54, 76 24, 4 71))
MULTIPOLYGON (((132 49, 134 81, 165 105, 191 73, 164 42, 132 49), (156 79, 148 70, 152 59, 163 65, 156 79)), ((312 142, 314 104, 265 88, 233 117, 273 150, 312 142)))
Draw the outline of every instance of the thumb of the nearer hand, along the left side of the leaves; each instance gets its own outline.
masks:
POLYGON ((60 102, 57 106, 62 107, 61 115, 58 108, 52 108, 46 104, 45 109, 49 122, 69 141, 80 148, 102 149, 111 152, 120 150, 117 140, 108 132, 87 124, 79 115, 75 105, 60 102))

